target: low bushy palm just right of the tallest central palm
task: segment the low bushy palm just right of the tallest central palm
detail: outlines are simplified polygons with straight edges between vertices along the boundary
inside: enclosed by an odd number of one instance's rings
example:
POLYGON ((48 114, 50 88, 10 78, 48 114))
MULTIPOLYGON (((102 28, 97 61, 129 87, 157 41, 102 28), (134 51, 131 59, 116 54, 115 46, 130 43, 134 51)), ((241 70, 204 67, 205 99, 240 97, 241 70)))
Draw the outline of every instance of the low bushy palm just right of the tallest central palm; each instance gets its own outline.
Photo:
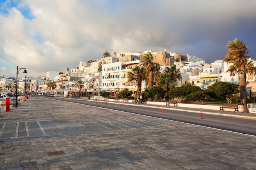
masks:
POLYGON ((160 86, 165 90, 165 99, 167 98, 167 93, 171 89, 173 89, 175 86, 177 86, 177 79, 173 79, 168 74, 162 74, 159 77, 159 83, 160 86))

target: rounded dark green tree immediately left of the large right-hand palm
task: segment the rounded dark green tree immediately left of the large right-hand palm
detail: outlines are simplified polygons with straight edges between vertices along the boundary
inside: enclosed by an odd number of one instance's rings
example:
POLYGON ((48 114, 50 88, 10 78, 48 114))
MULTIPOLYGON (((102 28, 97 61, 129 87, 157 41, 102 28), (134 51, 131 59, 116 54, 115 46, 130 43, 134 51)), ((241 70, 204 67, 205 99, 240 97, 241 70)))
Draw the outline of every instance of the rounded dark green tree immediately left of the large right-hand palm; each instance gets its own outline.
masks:
POLYGON ((238 84, 228 82, 216 82, 211 86, 207 87, 207 93, 215 93, 220 99, 225 98, 228 104, 231 104, 231 97, 239 92, 238 84))

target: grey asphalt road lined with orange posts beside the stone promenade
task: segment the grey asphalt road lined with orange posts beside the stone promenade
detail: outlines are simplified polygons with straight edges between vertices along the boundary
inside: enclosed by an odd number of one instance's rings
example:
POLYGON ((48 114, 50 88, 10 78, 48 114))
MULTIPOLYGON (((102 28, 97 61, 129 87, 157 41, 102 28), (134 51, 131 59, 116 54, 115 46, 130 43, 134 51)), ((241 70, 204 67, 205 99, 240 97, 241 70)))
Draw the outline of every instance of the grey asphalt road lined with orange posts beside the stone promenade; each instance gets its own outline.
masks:
MULTIPOLYGON (((49 98, 49 97, 48 97, 49 98)), ((201 119, 200 110, 197 113, 193 110, 177 110, 179 107, 164 106, 164 113, 162 106, 149 106, 148 104, 131 104, 121 102, 105 102, 95 100, 81 100, 81 99, 66 99, 52 97, 50 99, 62 100, 63 102, 75 102, 89 106, 109 108, 113 110, 124 111, 128 113, 135 113, 140 115, 147 115, 151 117, 158 117, 162 119, 169 119, 189 124, 196 124, 200 126, 218 128, 232 132, 239 132, 248 135, 256 136, 256 120, 255 119, 240 119, 236 117, 227 117, 214 114, 203 114, 201 119)), ((215 110, 212 110, 214 113, 215 110)))

